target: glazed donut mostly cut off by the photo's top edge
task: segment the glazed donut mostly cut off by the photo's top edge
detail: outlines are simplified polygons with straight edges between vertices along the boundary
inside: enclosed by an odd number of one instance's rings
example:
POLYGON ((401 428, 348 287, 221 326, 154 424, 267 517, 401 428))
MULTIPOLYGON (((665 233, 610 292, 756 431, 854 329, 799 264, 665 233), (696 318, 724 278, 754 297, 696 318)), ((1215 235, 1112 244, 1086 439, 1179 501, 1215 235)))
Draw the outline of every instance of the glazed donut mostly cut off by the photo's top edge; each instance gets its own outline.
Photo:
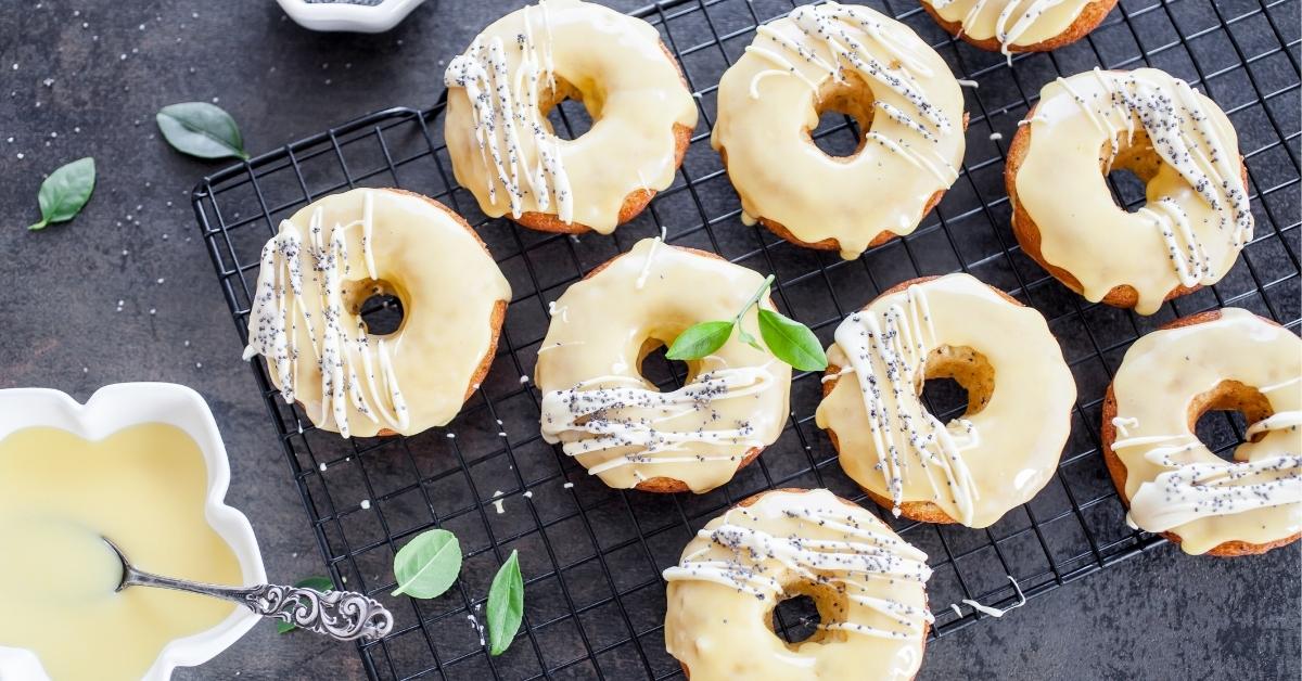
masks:
POLYGON ((956 38, 1012 57, 1048 52, 1096 29, 1117 0, 922 0, 923 9, 956 38))

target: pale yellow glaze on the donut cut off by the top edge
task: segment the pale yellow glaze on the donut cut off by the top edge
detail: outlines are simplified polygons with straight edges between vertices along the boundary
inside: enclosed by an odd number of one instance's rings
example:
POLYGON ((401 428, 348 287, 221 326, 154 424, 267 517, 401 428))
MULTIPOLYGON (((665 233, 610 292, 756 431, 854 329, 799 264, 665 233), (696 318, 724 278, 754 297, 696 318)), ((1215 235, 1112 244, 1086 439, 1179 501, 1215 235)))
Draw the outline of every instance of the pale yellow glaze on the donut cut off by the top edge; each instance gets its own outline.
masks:
POLYGON ((1068 30, 1094 0, 923 0, 963 35, 999 40, 1000 52, 1043 43, 1068 30))

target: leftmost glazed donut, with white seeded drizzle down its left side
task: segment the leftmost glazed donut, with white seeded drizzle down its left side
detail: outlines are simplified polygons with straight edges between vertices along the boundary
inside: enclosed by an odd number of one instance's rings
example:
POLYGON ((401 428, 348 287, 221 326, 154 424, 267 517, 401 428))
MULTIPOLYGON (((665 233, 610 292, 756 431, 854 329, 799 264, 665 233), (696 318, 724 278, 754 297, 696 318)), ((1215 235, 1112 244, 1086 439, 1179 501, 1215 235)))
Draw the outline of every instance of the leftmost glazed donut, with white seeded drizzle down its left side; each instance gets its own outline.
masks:
POLYGON ((470 225, 397 189, 309 203, 262 250, 245 359, 263 355, 285 402, 344 438, 413 435, 452 421, 488 372, 510 285, 470 225), (397 331, 361 316, 402 302, 397 331))

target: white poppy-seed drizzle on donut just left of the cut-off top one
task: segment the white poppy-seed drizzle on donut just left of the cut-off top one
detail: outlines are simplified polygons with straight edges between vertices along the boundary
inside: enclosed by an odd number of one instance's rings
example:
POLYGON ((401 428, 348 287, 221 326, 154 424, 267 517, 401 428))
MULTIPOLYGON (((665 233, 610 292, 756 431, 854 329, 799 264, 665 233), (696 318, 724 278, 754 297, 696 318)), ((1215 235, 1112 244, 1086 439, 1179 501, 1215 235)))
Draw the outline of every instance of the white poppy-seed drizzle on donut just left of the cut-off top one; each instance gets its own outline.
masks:
POLYGON ((784 73, 803 81, 818 96, 819 83, 805 76, 798 64, 812 64, 838 83, 846 82, 845 70, 850 69, 866 82, 887 87, 909 102, 911 111, 907 112, 881 100, 878 100, 876 105, 891 118, 918 133, 922 142, 928 145, 915 145, 909 139, 889 139, 874 132, 865 132, 865 137, 898 154, 910 164, 926 169, 945 185, 958 178, 958 171, 932 148, 934 145, 939 145, 940 135, 953 129, 953 122, 923 95, 918 77, 931 77, 932 72, 917 55, 896 40, 871 13, 859 12, 854 7, 842 7, 837 3, 802 5, 792 10, 790 18, 803 34, 798 40, 792 40, 772 26, 764 25, 756 31, 755 44, 746 47, 747 52, 777 66, 755 74, 750 82, 753 99, 759 99, 758 87, 762 79, 784 73), (763 46, 762 39, 772 43, 773 48, 763 46), (820 56, 820 48, 831 52, 831 61, 820 56), (879 60, 883 55, 887 64, 879 60))

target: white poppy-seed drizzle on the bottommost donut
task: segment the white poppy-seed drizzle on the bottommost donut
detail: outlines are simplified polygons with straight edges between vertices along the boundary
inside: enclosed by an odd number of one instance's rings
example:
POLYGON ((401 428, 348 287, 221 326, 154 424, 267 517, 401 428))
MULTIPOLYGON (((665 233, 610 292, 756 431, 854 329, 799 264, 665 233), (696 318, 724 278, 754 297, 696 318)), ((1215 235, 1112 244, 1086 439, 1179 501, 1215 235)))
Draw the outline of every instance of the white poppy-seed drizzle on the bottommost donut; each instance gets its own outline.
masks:
MULTIPOLYGON (((859 622, 832 621, 820 622, 820 629, 885 639, 921 637, 926 625, 935 621, 932 615, 926 608, 870 595, 870 585, 926 583, 931 577, 927 555, 904 539, 891 535, 880 522, 865 522, 857 518, 835 500, 827 503, 819 497, 806 499, 825 493, 825 491, 806 492, 799 495, 799 504, 790 504, 790 508, 783 509, 785 520, 796 523, 794 531, 783 535, 767 531, 764 518, 747 508, 729 509, 724 513, 723 522, 697 533, 697 536, 707 543, 684 555, 678 565, 664 570, 664 579, 712 582, 750 594, 759 600, 773 600, 775 594, 784 592, 780 577, 793 574, 799 579, 844 592, 854 603, 866 605, 900 625, 876 628, 859 622), (816 529, 819 535, 829 531, 840 538, 802 536, 799 530, 806 523, 816 529), (716 548, 730 557, 716 557, 719 552, 716 548)), ((762 499, 760 503, 763 501, 762 499)))

